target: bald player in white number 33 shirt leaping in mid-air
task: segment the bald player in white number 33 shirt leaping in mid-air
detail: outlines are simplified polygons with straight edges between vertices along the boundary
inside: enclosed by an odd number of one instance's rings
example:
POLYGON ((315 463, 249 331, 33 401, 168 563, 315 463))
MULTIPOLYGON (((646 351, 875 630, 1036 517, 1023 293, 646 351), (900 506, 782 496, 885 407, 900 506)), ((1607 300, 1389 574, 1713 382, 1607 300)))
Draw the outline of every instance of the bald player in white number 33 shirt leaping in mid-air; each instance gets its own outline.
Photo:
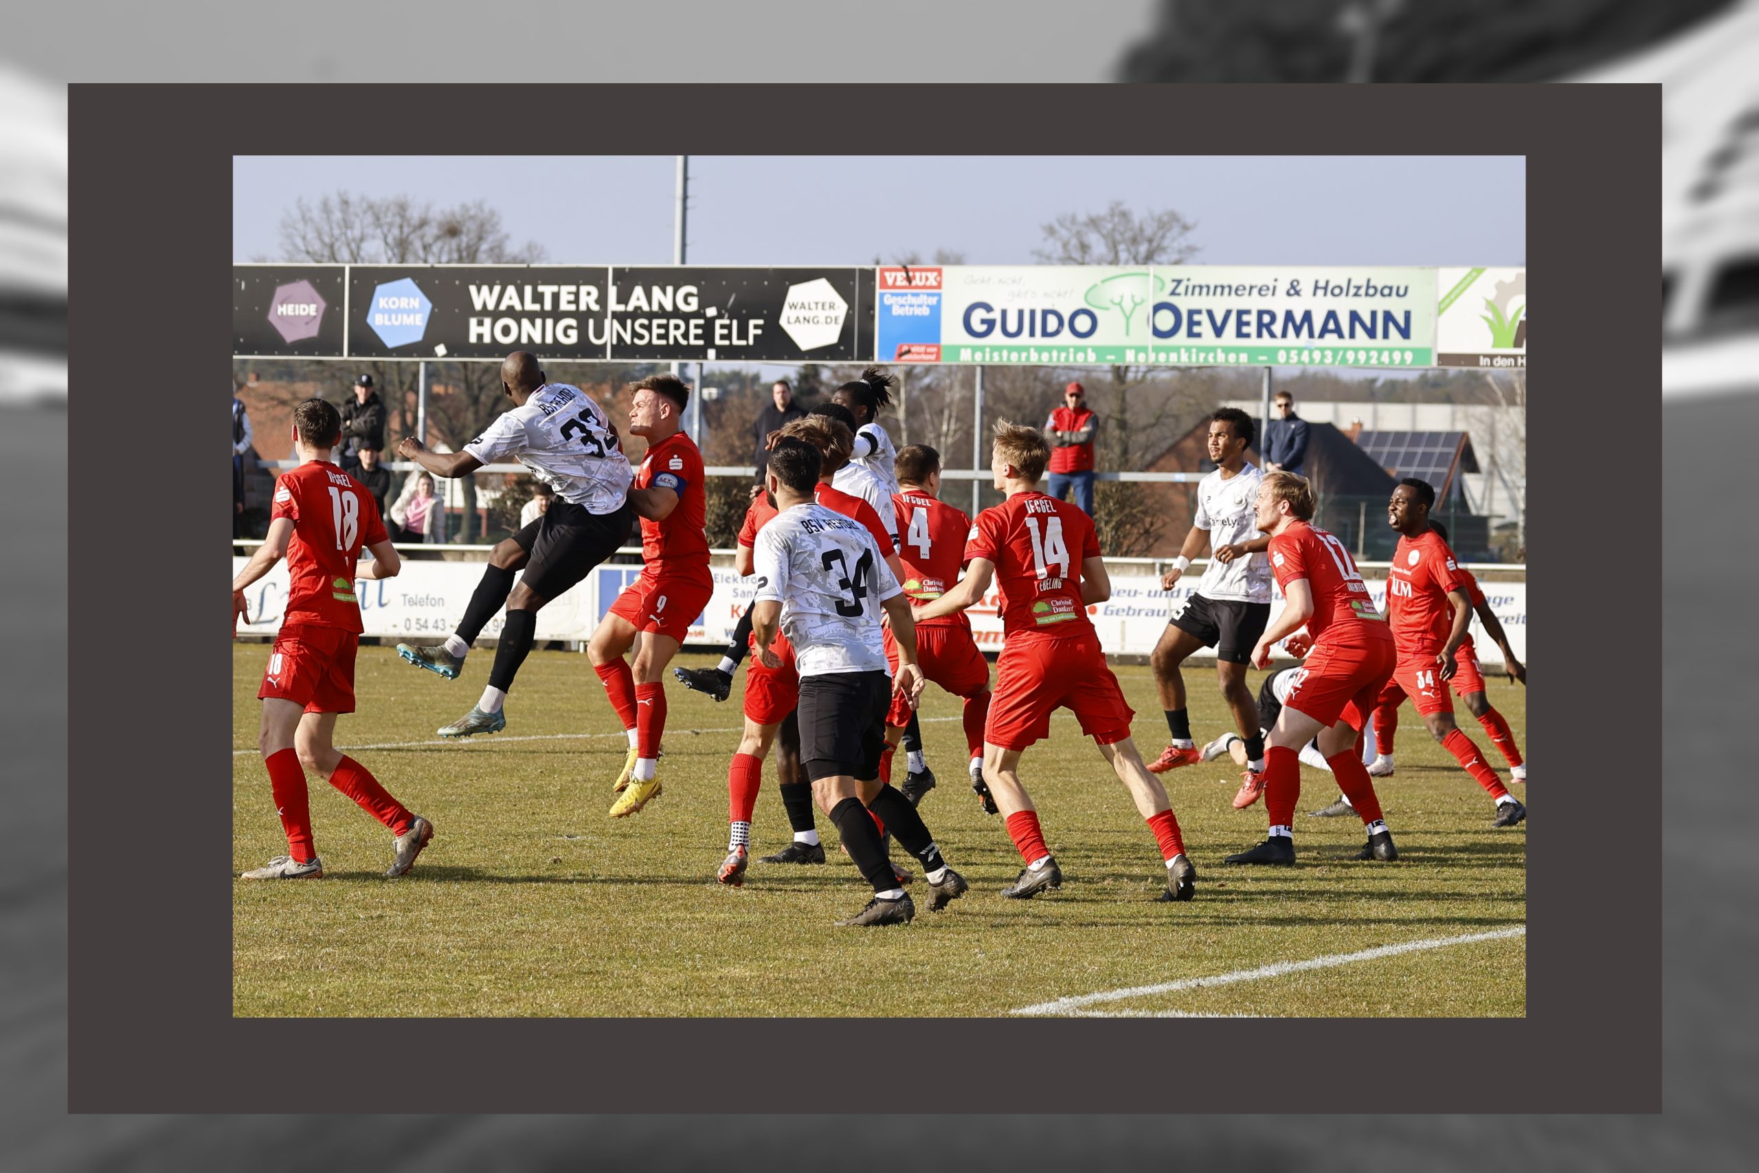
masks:
POLYGON ((398 455, 438 477, 463 477, 512 457, 556 489, 558 498, 535 522, 494 547, 463 623, 445 644, 398 644, 398 654, 410 663, 456 681, 482 628, 507 605, 489 686, 470 712, 440 728, 442 737, 507 728, 501 705, 531 651, 538 608, 610 557, 635 524, 628 499, 633 470, 603 408, 579 387, 545 380, 536 355, 524 350, 501 362, 501 390, 514 406, 463 452, 427 452, 413 436, 398 445, 398 455))

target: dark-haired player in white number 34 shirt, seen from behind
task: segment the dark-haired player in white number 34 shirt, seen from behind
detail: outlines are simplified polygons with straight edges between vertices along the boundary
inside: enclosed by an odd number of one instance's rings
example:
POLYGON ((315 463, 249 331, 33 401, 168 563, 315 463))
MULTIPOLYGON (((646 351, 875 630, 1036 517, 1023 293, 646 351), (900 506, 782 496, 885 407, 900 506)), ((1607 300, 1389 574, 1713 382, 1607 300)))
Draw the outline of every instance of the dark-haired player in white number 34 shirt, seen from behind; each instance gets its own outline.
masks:
POLYGON ((911 705, 922 695, 916 624, 867 528, 813 499, 821 464, 820 450, 793 436, 770 450, 765 482, 779 514, 758 531, 753 547, 755 654, 765 667, 779 667, 770 651, 777 628, 793 645, 800 675, 800 765, 820 811, 837 825, 843 846, 874 890, 860 913, 837 923, 902 925, 916 907, 887 862, 869 811, 927 869, 929 911, 946 907, 969 885, 941 858, 916 807, 880 783, 894 688, 911 705), (897 640, 895 686, 887 674, 881 608, 897 640))

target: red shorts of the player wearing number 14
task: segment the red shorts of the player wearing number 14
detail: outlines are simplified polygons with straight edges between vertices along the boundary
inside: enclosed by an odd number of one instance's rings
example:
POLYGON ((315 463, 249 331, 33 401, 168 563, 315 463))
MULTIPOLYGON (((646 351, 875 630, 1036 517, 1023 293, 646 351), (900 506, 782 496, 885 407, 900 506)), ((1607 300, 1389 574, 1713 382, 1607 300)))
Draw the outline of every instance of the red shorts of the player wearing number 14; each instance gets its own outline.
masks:
POLYGON ((996 659, 996 695, 983 740, 1025 749, 1050 733, 1050 714, 1057 709, 1069 709, 1082 733, 1101 746, 1129 737, 1129 719, 1136 716, 1105 661, 1098 635, 1011 637, 996 659))

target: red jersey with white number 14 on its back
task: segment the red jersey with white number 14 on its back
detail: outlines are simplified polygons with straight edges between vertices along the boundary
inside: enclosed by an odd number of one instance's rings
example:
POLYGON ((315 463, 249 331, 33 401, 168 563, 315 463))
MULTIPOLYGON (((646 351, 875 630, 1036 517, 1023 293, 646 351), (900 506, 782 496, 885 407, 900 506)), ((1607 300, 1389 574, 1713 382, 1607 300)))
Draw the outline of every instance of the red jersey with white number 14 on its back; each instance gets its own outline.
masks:
POLYGON ((1082 563, 1099 557, 1092 519, 1069 501, 1017 492, 978 514, 966 561, 996 565, 1003 633, 1077 638, 1094 633, 1082 601, 1082 563))

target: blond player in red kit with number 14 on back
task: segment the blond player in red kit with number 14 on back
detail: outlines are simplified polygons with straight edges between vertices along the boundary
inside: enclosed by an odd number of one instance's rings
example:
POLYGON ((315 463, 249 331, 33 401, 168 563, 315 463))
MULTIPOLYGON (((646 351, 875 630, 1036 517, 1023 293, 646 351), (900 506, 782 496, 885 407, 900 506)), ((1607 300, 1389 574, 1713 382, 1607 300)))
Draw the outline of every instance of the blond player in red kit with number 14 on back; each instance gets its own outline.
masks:
POLYGON ((1154 832, 1166 862, 1159 899, 1189 900, 1196 869, 1186 856, 1179 820, 1161 781, 1136 753, 1129 737, 1135 710, 1087 619, 1087 605, 1112 594, 1099 540, 1080 506, 1038 491, 1048 461, 1050 445, 1036 427, 996 426, 990 471, 1008 499, 978 514, 964 552, 969 568, 959 586, 915 608, 918 624, 952 616, 982 600, 992 579, 1001 594, 1006 642, 983 726, 983 781, 1025 863, 1003 895, 1025 900, 1062 886, 1018 765, 1025 747, 1050 733, 1050 714, 1071 709, 1154 832))

